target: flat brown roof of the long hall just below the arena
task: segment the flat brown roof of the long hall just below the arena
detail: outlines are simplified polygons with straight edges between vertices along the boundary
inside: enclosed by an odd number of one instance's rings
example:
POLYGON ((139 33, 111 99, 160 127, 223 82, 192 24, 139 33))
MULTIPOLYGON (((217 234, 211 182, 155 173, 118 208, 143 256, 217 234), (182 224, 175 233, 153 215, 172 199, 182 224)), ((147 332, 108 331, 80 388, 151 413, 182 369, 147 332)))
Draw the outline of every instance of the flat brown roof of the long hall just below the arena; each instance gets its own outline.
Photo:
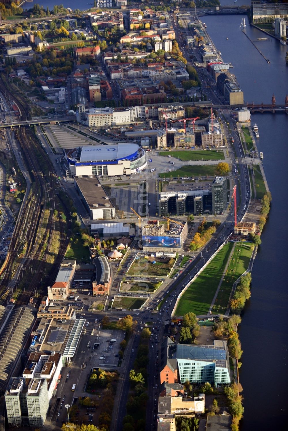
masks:
POLYGON ((77 186, 91 208, 93 208, 93 205, 95 205, 95 208, 106 208, 105 204, 109 204, 109 208, 114 207, 96 176, 75 177, 74 181, 76 181, 77 186))

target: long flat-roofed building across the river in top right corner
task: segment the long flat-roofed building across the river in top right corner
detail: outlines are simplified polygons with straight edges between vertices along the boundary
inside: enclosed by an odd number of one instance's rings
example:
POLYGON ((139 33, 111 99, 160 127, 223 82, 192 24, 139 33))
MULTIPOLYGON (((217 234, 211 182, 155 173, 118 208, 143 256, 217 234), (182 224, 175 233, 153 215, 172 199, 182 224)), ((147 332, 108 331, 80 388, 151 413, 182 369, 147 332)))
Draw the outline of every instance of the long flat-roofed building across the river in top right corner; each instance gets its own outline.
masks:
POLYGON ((276 18, 287 20, 288 4, 251 1, 251 17, 253 24, 274 22, 276 18))

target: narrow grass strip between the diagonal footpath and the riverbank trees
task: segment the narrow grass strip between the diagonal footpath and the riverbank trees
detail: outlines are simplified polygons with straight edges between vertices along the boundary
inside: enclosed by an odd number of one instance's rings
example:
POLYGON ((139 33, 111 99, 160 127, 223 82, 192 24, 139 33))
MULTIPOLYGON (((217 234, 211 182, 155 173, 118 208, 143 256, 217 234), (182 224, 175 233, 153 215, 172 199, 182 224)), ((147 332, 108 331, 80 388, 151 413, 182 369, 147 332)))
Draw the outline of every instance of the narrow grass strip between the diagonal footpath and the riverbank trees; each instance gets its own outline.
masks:
POLYGON ((236 244, 231 261, 228 265, 225 277, 223 278, 220 290, 218 292, 215 305, 212 308, 213 313, 225 313, 233 283, 248 268, 251 255, 252 250, 250 243, 238 242, 236 244))

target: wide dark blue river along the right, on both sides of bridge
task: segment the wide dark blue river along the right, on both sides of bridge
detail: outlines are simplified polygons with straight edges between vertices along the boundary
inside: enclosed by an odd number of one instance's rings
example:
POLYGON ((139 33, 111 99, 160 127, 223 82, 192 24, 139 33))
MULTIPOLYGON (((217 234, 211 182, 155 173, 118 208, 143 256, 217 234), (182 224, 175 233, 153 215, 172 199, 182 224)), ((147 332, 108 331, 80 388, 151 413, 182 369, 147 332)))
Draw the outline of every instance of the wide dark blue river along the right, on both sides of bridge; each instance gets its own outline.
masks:
MULTIPOLYGON (((244 100, 254 103, 283 103, 288 93, 287 46, 271 38, 257 42, 270 59, 268 64, 239 28, 243 16, 205 16, 207 31, 224 62, 244 91, 244 100), (226 39, 228 37, 228 40, 226 39)), ((250 27, 251 40, 266 35, 250 27)), ((285 429, 287 425, 288 343, 287 343, 287 244, 288 244, 288 116, 285 114, 253 114, 263 151, 263 166, 272 207, 261 235, 252 270, 251 298, 245 306, 239 334, 244 350, 240 382, 244 387, 244 419, 241 431, 285 429)))

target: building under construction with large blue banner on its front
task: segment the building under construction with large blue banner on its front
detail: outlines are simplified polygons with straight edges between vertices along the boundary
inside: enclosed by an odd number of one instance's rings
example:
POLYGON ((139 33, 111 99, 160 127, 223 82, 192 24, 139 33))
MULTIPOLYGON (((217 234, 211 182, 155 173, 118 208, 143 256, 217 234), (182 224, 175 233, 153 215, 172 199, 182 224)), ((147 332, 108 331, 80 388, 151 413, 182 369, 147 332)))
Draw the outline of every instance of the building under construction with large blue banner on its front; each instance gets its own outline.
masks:
POLYGON ((149 222, 142 228, 143 250, 150 252, 183 251, 187 235, 187 222, 167 219, 167 227, 166 224, 159 224, 158 221, 149 222))

